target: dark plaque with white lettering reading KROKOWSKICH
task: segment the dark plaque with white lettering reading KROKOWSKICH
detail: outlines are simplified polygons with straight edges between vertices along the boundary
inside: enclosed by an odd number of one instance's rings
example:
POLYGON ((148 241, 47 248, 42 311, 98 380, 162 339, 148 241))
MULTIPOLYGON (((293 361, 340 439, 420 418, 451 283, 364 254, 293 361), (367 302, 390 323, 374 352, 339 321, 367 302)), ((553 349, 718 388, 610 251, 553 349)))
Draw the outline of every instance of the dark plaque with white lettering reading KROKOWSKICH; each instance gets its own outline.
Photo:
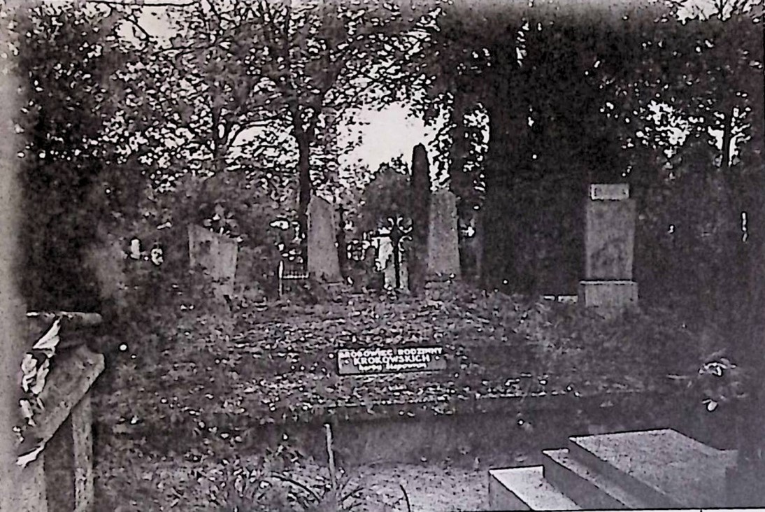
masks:
POLYGON ((340 375, 445 369, 444 347, 363 348, 337 351, 337 373, 340 375))

